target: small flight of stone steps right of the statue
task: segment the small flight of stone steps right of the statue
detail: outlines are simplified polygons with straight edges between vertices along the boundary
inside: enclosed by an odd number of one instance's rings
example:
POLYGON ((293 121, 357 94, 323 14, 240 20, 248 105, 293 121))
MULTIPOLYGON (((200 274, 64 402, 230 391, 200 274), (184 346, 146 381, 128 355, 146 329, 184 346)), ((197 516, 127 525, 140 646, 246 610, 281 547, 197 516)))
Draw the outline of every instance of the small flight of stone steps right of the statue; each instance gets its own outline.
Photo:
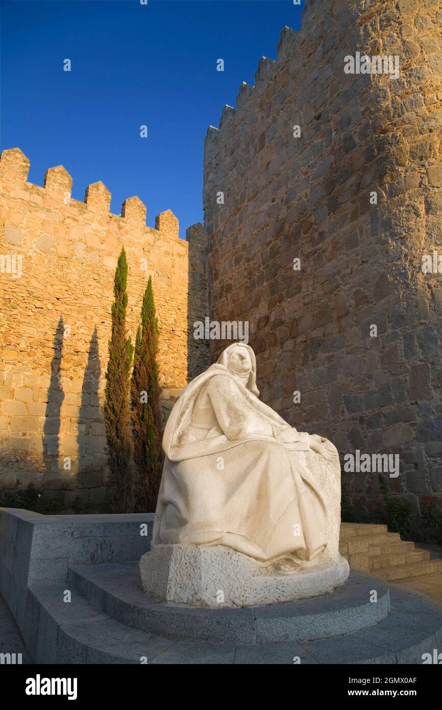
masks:
POLYGON ((442 572, 442 559, 430 559, 428 550, 416 550, 414 542, 402 541, 387 525, 341 523, 339 552, 353 569, 385 580, 442 572))

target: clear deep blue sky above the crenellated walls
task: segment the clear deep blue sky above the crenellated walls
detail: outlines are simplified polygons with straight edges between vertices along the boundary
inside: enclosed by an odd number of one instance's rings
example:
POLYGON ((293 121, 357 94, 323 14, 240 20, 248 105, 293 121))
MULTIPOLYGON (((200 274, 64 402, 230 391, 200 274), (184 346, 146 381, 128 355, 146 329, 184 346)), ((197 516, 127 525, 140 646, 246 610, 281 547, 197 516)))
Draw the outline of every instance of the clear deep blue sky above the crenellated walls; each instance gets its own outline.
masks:
POLYGON ((116 214, 138 195, 148 226, 172 209, 184 237, 202 222, 207 127, 300 12, 293 0, 2 1, 1 148, 26 153, 36 185, 64 165, 76 200, 102 180, 116 214))

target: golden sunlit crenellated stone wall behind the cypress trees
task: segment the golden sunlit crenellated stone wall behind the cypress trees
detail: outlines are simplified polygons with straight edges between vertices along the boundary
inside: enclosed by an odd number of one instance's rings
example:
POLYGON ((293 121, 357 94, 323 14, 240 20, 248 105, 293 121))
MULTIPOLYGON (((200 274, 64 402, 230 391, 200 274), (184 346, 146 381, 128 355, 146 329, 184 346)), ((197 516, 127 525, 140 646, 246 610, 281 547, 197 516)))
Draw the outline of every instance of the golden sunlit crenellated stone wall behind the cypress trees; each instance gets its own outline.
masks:
POLYGON ((72 200, 65 168, 48 170, 44 187, 27 182, 28 168, 18 148, 1 153, 0 488, 32 482, 65 510, 94 509, 105 501, 101 407, 121 247, 133 342, 153 277, 166 415, 207 365, 206 344, 189 338, 207 312, 206 234, 195 224, 179 239, 169 210, 146 227, 138 197, 110 214, 101 182, 72 200))

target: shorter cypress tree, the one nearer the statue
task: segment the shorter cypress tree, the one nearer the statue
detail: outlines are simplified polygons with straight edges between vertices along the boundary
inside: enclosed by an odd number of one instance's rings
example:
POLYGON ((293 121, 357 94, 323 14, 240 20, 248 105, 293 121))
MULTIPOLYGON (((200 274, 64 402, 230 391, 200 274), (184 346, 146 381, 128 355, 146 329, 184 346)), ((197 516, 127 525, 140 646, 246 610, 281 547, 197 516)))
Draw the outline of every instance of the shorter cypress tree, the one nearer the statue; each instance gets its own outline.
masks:
POLYGON ((136 335, 131 381, 136 510, 149 513, 156 508, 162 469, 160 388, 156 362, 159 334, 152 278, 149 276, 141 307, 141 324, 136 335))

